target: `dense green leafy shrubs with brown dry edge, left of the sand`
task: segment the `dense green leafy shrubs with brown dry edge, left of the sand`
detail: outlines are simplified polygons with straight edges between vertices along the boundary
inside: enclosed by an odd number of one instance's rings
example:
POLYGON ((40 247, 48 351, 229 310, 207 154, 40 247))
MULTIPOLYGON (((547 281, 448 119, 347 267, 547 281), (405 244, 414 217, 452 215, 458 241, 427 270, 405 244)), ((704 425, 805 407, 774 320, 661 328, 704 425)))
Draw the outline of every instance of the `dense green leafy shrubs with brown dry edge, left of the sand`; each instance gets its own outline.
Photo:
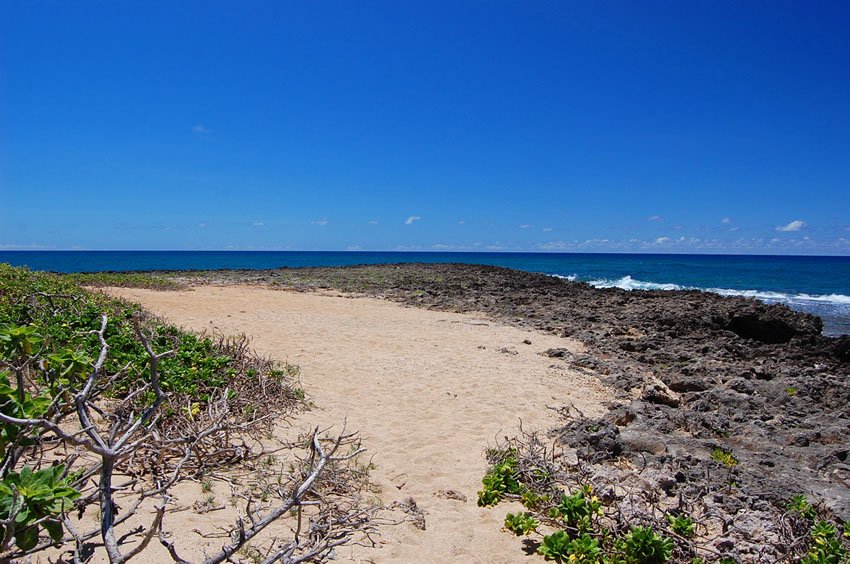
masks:
MULTIPOLYGON (((129 280, 143 279, 165 284, 129 280)), ((248 437, 303 397, 246 339, 188 334, 79 286, 94 280, 117 282, 0 264, 3 561, 71 540, 63 518, 97 505, 98 473, 201 476, 249 456, 248 437), (97 456, 74 454, 84 442, 97 456)))

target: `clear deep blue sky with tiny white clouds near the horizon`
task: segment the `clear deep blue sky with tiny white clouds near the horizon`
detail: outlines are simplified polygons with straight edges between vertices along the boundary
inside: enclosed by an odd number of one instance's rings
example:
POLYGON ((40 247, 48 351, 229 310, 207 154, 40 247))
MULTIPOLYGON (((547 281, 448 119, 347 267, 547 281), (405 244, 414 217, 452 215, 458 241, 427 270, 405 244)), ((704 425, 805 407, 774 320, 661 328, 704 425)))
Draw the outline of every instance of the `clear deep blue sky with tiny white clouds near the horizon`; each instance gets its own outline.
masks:
POLYGON ((850 4, 0 5, 0 249, 850 254, 850 4))

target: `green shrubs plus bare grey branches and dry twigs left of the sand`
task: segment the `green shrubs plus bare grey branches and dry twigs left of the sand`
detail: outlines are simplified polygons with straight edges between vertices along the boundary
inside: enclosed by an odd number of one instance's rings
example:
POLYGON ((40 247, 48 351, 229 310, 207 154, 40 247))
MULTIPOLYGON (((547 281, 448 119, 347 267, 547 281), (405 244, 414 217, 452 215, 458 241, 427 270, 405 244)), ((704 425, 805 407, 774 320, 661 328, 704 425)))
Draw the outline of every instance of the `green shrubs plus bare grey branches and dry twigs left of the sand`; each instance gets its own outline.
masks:
POLYGON ((73 277, 0 264, 0 560, 125 562, 156 544, 212 564, 251 560, 260 541, 298 562, 368 531, 357 434, 275 438, 306 406, 297 375, 244 336, 188 333, 73 277), (239 517, 202 532, 220 540, 199 554, 174 541, 172 492, 199 483, 193 510, 216 511, 217 480, 239 517), (292 534, 264 536, 281 519, 292 534))

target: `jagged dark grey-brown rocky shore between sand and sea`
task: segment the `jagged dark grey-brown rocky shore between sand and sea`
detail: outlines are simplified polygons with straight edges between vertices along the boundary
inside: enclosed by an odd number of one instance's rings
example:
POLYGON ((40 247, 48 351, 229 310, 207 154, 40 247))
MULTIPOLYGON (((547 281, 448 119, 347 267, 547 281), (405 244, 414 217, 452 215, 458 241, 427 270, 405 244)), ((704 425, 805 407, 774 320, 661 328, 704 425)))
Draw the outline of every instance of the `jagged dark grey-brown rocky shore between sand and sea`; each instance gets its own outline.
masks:
POLYGON ((783 555, 781 546, 765 552, 785 542, 766 523, 781 520, 795 494, 850 520, 850 337, 822 336, 817 317, 747 298, 597 289, 475 265, 161 274, 335 289, 570 336, 587 354, 552 349, 552 362, 593 371, 616 394, 606 417, 574 415, 550 436, 599 479, 624 479, 615 457, 639 461, 643 486, 700 498, 722 521, 716 548, 734 546, 745 560, 783 555), (718 451, 734 456, 728 472, 712 459, 718 451))

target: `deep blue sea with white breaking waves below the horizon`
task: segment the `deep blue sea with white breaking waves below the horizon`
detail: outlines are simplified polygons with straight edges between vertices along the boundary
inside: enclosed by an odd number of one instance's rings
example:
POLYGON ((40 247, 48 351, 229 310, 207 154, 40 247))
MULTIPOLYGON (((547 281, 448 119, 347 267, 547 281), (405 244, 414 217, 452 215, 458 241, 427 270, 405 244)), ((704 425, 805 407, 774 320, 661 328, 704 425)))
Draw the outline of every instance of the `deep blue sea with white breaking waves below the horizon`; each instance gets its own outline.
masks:
POLYGON ((627 290, 694 288, 779 302, 850 333, 850 257, 314 251, 0 251, 0 262, 54 272, 266 269, 394 262, 505 266, 627 290))

